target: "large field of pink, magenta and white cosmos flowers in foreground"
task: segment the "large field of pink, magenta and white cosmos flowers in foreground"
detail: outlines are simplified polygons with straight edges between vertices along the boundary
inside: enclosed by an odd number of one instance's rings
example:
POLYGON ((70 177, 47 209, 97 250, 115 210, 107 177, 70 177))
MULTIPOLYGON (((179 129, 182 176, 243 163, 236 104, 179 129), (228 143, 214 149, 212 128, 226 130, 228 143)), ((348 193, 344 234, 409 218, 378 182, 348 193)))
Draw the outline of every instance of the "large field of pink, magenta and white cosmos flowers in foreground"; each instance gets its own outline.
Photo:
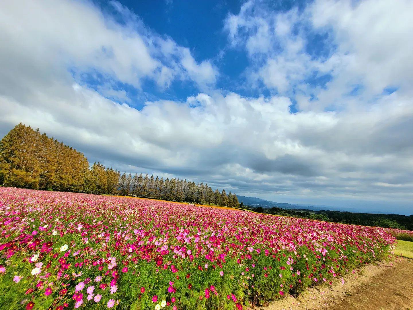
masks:
POLYGON ((1 309, 242 309, 388 255, 385 229, 0 188, 1 309))

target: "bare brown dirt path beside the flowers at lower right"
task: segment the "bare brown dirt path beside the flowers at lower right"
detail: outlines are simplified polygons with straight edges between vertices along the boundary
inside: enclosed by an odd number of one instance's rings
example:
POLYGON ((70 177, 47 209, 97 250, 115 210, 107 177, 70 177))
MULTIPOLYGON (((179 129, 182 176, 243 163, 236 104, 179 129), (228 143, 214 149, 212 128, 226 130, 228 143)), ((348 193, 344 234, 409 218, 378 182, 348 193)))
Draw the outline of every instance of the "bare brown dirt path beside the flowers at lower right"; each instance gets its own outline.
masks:
POLYGON ((413 260, 396 257, 370 264, 356 274, 337 279, 332 286, 308 289, 297 298, 287 297, 262 310, 413 310, 413 260))

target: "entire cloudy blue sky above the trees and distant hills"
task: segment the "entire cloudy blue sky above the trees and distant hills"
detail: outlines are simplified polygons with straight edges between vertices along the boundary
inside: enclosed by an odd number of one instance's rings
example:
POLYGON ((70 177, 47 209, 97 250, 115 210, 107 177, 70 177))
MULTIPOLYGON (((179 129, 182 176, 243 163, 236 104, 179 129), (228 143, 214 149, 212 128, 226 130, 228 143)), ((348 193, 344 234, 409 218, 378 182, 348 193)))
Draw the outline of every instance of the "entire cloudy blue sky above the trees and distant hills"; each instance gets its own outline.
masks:
POLYGON ((244 196, 413 213, 413 2, 0 4, 0 134, 244 196))

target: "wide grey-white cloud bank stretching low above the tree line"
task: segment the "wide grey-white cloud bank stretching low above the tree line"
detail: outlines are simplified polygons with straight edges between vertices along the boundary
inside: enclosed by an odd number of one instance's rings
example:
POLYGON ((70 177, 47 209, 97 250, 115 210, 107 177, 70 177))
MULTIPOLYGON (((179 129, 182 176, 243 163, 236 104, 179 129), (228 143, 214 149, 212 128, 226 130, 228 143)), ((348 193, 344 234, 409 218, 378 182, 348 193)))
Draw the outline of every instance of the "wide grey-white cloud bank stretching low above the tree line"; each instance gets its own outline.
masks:
MULTIPOLYGON (((116 165, 195 176, 237 192, 413 198, 410 185, 376 186, 411 184, 412 141, 394 143, 391 134, 403 119, 413 119, 409 102, 357 113, 290 114, 289 104, 283 97, 213 92, 138 111, 78 85, 54 93, 33 89, 26 102, 0 98, 7 126, 22 120, 116 165)), ((405 137, 410 131, 397 130, 405 137)))

